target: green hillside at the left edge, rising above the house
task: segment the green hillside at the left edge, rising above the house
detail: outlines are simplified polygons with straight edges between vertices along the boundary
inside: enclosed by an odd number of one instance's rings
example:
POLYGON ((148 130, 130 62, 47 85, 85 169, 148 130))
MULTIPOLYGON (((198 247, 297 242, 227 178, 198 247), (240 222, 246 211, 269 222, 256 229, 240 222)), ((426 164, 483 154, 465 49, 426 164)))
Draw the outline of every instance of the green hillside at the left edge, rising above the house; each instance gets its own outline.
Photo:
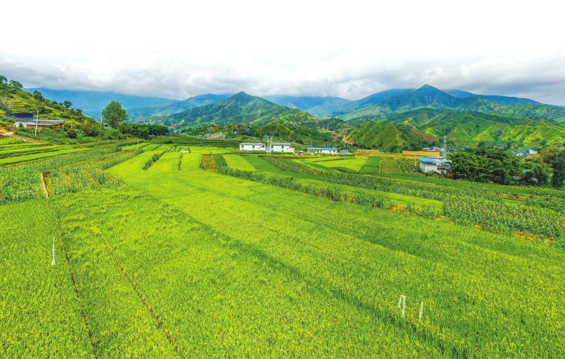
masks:
POLYGON ((78 126, 93 119, 85 116, 81 110, 64 107, 61 103, 49 100, 44 95, 32 95, 20 88, 0 83, 0 118, 9 112, 36 112, 42 119, 64 119, 67 127, 78 126))

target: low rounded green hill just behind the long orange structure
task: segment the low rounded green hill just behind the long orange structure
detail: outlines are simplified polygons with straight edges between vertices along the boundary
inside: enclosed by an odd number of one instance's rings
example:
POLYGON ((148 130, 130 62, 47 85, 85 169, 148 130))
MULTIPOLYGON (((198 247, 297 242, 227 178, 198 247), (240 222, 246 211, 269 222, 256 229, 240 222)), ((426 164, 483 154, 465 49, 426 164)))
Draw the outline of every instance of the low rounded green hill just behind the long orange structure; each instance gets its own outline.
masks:
POLYGON ((436 137, 420 131, 411 124, 385 122, 360 124, 350 131, 349 137, 357 146, 390 152, 397 149, 420 149, 439 142, 436 137))

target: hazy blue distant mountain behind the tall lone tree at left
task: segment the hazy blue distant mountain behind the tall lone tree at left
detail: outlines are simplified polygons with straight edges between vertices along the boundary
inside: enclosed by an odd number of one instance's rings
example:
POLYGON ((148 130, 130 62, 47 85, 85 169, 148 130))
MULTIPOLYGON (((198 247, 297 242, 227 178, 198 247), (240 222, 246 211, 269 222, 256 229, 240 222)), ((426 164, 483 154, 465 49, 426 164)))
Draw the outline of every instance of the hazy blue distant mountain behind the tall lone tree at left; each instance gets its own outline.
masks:
POLYGON ((169 105, 177 102, 177 100, 168 98, 124 95, 112 91, 52 90, 51 88, 26 88, 25 90, 30 93, 38 90, 46 98, 57 102, 71 101, 74 108, 80 108, 85 114, 92 117, 98 117, 111 101, 120 102, 122 107, 128 111, 139 107, 169 105))

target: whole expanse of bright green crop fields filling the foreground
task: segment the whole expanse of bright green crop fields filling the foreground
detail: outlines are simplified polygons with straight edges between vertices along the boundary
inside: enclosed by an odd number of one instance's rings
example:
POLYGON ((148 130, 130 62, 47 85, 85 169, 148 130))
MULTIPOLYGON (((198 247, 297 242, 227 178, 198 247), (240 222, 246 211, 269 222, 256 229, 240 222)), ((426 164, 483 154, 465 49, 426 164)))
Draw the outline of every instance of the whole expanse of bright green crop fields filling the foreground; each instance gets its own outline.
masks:
POLYGON ((0 356, 563 357, 565 192, 510 205, 387 159, 130 142, 0 167, 0 356))

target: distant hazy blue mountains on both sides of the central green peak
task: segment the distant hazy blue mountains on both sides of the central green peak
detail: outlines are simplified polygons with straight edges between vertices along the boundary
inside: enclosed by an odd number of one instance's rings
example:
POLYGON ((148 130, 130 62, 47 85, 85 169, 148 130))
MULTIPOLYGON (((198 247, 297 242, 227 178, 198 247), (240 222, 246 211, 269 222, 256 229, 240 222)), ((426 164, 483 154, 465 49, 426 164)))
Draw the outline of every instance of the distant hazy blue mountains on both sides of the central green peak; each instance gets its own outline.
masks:
MULTIPOLYGON (((196 95, 185 100, 171 100, 167 98, 143 97, 134 95, 124 95, 114 92, 100 91, 81 91, 81 90, 52 90, 49 88, 28 88, 29 92, 39 90, 45 97, 63 102, 69 100, 73 106, 81 108, 85 114, 98 117, 102 109, 110 101, 121 102, 122 106, 128 111, 130 119, 150 118, 189 110, 193 107, 208 105, 210 103, 225 100, 232 94, 203 94, 196 95)), ((523 105, 516 110, 516 114, 528 117, 533 114, 532 106, 549 107, 544 114, 552 116, 551 108, 554 106, 544 105, 528 98, 515 98, 498 95, 477 95, 463 90, 441 91, 432 86, 422 86, 422 88, 393 88, 383 90, 378 93, 368 95, 359 100, 347 100, 332 96, 287 96, 287 95, 266 95, 265 100, 283 105, 291 109, 303 110, 316 117, 342 117, 345 120, 374 119, 374 117, 391 114, 406 108, 414 108, 416 105, 428 107, 444 107, 453 110, 480 110, 482 112, 501 112, 504 106, 494 109, 498 105, 523 105), (437 92, 441 93, 437 93, 437 92), (436 92, 434 95, 433 92, 436 92), (426 94, 427 93, 427 94, 426 94), (418 97, 423 97, 417 99, 418 97), (410 102, 410 98, 412 101, 410 102), (414 99, 416 98, 416 99, 414 99), (427 100, 436 98, 434 103, 427 100), (398 106, 399 101, 409 100, 404 107, 398 106), (481 103, 480 100, 487 102, 481 103), (387 104, 386 102, 391 102, 387 104), (389 105, 393 105, 391 108, 389 105), (397 107, 397 108, 394 108, 397 107), (352 113, 353 112, 353 113, 352 113), (546 113, 547 112, 547 113, 546 113)), ((559 108, 559 107, 558 107, 559 108)), ((506 111, 510 112, 508 109, 506 111)), ((559 116, 553 115, 559 118, 559 116)))

